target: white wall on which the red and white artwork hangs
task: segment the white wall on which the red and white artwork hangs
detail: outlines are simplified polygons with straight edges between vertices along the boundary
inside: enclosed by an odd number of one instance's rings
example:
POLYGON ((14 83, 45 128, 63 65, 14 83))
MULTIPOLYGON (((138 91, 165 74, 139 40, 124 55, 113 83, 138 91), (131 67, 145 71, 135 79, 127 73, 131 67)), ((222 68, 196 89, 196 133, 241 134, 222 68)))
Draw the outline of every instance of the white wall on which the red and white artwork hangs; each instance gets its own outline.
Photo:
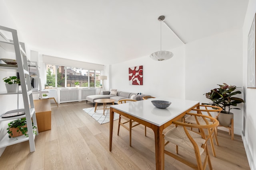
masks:
POLYGON ((185 98, 184 46, 172 49, 174 57, 166 61, 154 61, 149 55, 124 63, 113 64, 110 88, 118 91, 185 98), (128 68, 143 66, 143 85, 129 85, 128 68))

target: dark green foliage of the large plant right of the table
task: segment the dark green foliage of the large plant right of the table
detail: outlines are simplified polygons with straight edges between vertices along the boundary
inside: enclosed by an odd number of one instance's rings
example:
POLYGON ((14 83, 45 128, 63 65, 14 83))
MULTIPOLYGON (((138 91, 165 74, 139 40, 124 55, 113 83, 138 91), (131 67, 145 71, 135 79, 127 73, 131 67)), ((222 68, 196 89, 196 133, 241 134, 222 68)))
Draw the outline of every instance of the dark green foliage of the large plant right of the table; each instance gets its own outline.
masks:
POLYGON ((206 98, 212 100, 212 103, 210 103, 213 106, 219 106, 222 107, 224 113, 229 114, 231 109, 240 109, 236 107, 230 107, 230 106, 237 106, 237 104, 244 103, 244 100, 241 98, 232 97, 236 94, 241 94, 240 91, 235 91, 236 86, 229 86, 226 83, 223 83, 222 85, 217 84, 220 86, 219 88, 214 88, 210 92, 206 93, 206 98))

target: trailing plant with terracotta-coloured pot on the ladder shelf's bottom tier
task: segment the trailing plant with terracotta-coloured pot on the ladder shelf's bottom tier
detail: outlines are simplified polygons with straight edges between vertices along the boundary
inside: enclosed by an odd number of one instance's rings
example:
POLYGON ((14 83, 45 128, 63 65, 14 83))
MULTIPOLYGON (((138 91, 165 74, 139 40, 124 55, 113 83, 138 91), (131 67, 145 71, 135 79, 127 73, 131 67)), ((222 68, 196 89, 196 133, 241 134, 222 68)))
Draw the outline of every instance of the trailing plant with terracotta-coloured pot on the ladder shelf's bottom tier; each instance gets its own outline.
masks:
MULTIPOLYGON (((33 133, 36 134, 36 131, 34 129, 36 129, 37 127, 34 126, 33 122, 32 122, 32 126, 33 126, 33 133)), ((7 133, 9 134, 8 136, 9 138, 17 137, 21 135, 25 135, 26 137, 28 137, 27 132, 28 132, 28 127, 27 127, 26 117, 16 119, 8 123, 7 133)))

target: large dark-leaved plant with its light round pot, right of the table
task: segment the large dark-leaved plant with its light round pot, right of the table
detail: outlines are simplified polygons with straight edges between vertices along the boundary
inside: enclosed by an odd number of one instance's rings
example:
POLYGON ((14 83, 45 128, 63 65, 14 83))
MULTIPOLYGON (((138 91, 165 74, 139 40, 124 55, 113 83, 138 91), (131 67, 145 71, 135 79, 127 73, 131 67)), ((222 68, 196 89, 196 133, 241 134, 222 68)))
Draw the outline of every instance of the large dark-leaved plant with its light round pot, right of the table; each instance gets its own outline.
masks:
POLYGON ((218 84, 218 86, 220 87, 214 88, 210 92, 206 93, 205 96, 212 100, 212 103, 210 103, 211 105, 222 107, 223 110, 218 116, 218 121, 220 122, 220 125, 228 127, 231 124, 231 119, 234 118, 234 115, 230 110, 240 109, 230 106, 237 106, 237 104, 244 103, 244 100, 232 97, 236 94, 241 94, 240 91, 234 92, 234 90, 236 90, 236 86, 229 86, 226 83, 223 83, 222 85, 218 84))

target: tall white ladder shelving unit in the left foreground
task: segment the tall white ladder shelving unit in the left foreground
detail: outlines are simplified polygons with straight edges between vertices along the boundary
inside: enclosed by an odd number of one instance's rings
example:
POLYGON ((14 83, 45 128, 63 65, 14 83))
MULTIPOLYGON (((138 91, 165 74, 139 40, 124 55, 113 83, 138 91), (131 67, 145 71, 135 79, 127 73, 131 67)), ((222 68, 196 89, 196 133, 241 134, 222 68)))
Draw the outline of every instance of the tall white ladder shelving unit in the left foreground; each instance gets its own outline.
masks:
MULTIPOLYGON (((25 137, 24 135, 22 135, 22 136, 17 137, 17 139, 16 138, 8 138, 8 133, 7 133, 3 139, 0 139, 0 148, 7 147, 9 145, 14 145, 16 143, 20 143, 23 141, 29 141, 30 152, 34 152, 36 150, 36 148, 35 148, 35 141, 34 141, 35 135, 33 134, 33 128, 32 128, 32 120, 33 120, 34 126, 37 126, 37 122, 36 122, 36 113, 35 113, 34 102, 33 102, 31 80, 30 80, 30 73, 29 73, 29 69, 28 69, 28 60, 26 57, 26 52, 22 49, 22 45, 20 45, 20 42, 18 41, 17 31, 15 29, 0 26, 0 31, 1 30, 10 32, 12 34, 13 40, 12 41, 8 41, 8 40, 0 41, 0 46, 7 52, 15 53, 17 67, 3 66, 3 64, 2 64, 0 66, 0 69, 6 70, 6 71, 10 71, 10 70, 18 71, 19 76, 20 76, 21 91, 16 92, 16 93, 0 92, 0 95, 22 94, 24 108, 18 109, 18 110, 17 109, 12 110, 12 111, 14 113, 14 112, 18 112, 18 111, 22 110, 22 111, 25 111, 25 115, 20 115, 20 116, 16 116, 16 117, 8 117, 8 118, 0 117, 0 121, 13 120, 13 119, 26 117, 29 137, 25 137)), ((36 131, 37 131, 37 129, 36 129, 36 131)), ((38 131, 37 131, 37 133, 38 133, 38 131)))

